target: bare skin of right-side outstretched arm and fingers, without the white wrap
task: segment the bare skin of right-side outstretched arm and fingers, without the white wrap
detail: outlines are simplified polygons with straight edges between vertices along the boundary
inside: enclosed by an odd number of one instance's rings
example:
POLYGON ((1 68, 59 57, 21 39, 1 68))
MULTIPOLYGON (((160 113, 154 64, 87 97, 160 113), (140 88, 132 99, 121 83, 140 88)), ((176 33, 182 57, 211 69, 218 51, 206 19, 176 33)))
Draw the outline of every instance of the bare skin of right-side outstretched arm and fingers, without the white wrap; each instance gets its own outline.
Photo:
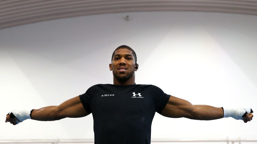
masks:
MULTIPOLYGON (((161 115, 165 117, 179 118, 186 117, 194 120, 215 120, 223 118, 222 108, 209 105, 192 105, 190 102, 171 96, 161 115)), ((246 114, 244 122, 251 121, 252 113, 246 114)))

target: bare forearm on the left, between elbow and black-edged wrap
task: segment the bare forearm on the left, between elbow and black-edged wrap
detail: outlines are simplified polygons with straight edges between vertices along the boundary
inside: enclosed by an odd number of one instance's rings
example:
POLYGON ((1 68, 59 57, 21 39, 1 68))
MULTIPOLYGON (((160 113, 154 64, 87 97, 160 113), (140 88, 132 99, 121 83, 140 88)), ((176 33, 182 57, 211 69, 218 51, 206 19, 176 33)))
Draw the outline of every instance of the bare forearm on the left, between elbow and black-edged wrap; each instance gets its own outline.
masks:
POLYGON ((31 118, 37 121, 56 121, 65 116, 60 115, 58 106, 47 106, 44 108, 34 109, 31 118))

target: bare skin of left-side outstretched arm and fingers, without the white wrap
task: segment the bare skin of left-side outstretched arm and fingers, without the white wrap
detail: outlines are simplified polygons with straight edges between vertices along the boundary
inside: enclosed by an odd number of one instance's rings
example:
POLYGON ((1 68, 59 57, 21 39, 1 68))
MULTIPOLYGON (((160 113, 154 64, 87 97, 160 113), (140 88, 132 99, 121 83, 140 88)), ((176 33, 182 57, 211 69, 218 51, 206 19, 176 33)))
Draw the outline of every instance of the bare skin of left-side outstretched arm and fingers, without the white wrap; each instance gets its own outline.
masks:
MULTIPOLYGON (((84 109, 79 96, 69 99, 58 106, 48 106, 44 108, 34 109, 31 118, 37 121, 55 121, 66 117, 84 117, 88 115, 84 109)), ((5 122, 16 124, 17 118, 6 116, 5 122)), ((19 121, 19 120, 18 120, 19 121)))

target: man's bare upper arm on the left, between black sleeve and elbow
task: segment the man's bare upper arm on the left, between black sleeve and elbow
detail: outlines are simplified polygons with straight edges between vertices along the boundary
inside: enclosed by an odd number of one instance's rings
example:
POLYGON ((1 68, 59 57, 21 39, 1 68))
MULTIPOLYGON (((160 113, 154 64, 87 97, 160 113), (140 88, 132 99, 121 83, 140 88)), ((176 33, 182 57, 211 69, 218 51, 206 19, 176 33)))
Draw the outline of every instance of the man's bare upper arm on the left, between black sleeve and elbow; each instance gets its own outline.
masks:
POLYGON ((57 106, 59 114, 63 117, 84 117, 88 115, 85 108, 83 107, 80 97, 76 96, 69 99, 57 106))

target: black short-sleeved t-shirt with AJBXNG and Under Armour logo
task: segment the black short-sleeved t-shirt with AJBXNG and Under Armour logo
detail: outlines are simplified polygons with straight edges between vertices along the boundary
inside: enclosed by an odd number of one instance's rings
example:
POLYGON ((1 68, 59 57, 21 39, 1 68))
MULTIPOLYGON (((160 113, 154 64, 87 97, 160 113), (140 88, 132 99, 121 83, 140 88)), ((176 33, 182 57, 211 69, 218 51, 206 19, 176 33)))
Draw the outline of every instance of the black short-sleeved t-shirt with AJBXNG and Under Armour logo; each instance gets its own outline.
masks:
POLYGON ((97 84, 80 95, 94 119, 95 144, 150 144, 155 112, 170 95, 154 85, 97 84))

